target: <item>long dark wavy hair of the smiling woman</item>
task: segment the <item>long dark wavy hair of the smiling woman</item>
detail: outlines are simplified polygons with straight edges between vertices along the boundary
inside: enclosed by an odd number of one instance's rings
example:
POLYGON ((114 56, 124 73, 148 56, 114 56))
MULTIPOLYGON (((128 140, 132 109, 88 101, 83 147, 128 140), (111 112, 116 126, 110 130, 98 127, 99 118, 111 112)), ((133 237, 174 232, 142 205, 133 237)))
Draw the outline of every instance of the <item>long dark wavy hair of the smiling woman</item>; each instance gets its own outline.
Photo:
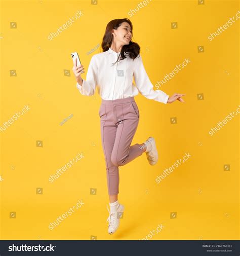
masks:
MULTIPOLYGON (((132 38, 133 38, 133 24, 128 18, 111 20, 108 22, 106 26, 106 30, 102 39, 101 46, 102 46, 103 52, 108 51, 112 44, 112 41, 113 41, 112 29, 113 28, 117 29, 119 26, 121 26, 123 22, 128 22, 128 24, 130 25, 132 30, 132 38)), ((137 43, 132 42, 132 39, 131 39, 131 41, 129 42, 129 45, 124 45, 122 47, 121 53, 119 54, 119 56, 121 56, 120 60, 125 59, 127 56, 129 56, 132 59, 135 59, 138 56, 139 52, 140 52, 140 46, 137 43)), ((116 62, 118 61, 118 58, 116 62)), ((115 64, 116 62, 114 62, 113 64, 115 64)))

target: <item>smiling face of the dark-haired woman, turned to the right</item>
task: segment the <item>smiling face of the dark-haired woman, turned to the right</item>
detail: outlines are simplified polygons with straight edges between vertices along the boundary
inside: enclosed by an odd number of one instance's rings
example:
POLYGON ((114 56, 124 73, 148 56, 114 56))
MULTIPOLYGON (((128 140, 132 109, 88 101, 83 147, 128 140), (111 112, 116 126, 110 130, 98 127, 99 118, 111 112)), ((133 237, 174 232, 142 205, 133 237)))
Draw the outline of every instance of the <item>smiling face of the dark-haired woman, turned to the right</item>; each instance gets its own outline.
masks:
POLYGON ((128 45, 132 39, 132 29, 128 22, 123 22, 117 29, 113 29, 113 41, 121 45, 128 45), (114 35, 116 34, 116 36, 114 35))

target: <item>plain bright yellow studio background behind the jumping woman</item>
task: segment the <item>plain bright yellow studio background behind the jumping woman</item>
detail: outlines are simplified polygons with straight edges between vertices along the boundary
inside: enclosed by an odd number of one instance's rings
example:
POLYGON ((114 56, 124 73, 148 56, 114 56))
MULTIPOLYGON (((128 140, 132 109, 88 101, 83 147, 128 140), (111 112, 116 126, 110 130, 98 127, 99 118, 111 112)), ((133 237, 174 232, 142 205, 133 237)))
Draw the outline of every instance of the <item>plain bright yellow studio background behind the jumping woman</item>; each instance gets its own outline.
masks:
MULTIPOLYGON (((238 1, 151 1, 133 17, 137 1, 2 1, 1 126, 24 105, 30 110, 1 132, 1 239, 142 239, 162 224, 151 240, 239 239, 239 116, 214 136, 209 130, 239 104, 239 21, 212 42, 210 33, 239 10, 238 1), (77 10, 84 15, 52 41, 50 32, 77 10), (163 104, 135 97, 140 122, 133 144, 156 140, 159 160, 145 154, 120 167, 118 200, 125 205, 117 232, 105 223, 108 193, 98 111, 100 96, 76 89, 70 53, 87 68, 100 48, 107 23, 133 22, 154 85, 175 65, 190 63, 161 87, 169 95, 185 93, 186 103, 163 104), (17 28, 10 28, 17 22, 17 28), (171 29, 171 22, 178 22, 171 29), (197 46, 205 52, 198 53, 197 46), (10 77, 16 69, 17 76, 10 77), (70 77, 63 70, 70 70, 70 77), (204 100, 197 100, 203 93, 204 100), (60 122, 73 115, 62 126, 60 122), (176 117, 177 124, 170 118, 176 117), (42 140, 43 147, 36 147, 42 140), (79 152, 85 157, 57 180, 48 178, 79 152), (185 153, 192 156, 160 184, 155 178, 185 153), (230 171, 224 171, 230 164, 230 171), (36 195, 36 188, 43 188, 36 195), (90 195, 90 188, 97 195, 90 195), (83 205, 54 230, 56 218, 82 200, 83 205), (16 218, 10 218, 16 212, 16 218), (176 218, 170 218, 177 212, 176 218)), ((156 89, 156 88, 154 88, 156 89)))

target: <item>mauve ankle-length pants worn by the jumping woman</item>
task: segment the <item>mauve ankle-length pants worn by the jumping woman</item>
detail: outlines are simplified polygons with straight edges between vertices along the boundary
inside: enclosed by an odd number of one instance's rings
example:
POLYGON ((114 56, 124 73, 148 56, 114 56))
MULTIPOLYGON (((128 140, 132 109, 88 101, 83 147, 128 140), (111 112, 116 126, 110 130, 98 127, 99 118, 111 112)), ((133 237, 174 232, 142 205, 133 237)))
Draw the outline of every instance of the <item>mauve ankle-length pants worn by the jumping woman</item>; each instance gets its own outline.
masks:
POLYGON ((118 166, 129 163, 143 153, 140 144, 131 145, 139 122, 139 109, 134 97, 102 99, 99 117, 108 194, 117 195, 119 193, 118 166))

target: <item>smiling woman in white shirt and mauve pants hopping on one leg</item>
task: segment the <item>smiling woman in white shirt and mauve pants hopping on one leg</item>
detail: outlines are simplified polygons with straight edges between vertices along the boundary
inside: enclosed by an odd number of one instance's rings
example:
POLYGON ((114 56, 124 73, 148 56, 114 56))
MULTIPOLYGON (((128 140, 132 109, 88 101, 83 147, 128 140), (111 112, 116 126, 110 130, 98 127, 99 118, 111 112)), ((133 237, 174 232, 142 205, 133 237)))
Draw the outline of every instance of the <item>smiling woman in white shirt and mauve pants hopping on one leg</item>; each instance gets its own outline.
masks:
POLYGON ((119 226, 124 206, 118 203, 118 166, 125 165, 146 153, 150 165, 157 162, 158 154, 153 137, 142 144, 131 145, 139 122, 139 109, 134 96, 140 92, 148 99, 172 103, 184 102, 181 96, 169 97, 161 90, 153 90, 142 58, 140 47, 132 42, 133 25, 127 18, 111 20, 102 41, 103 52, 92 56, 86 80, 81 78, 84 66, 73 65, 76 87, 82 95, 92 96, 97 88, 102 98, 99 109, 102 148, 105 155, 110 211, 107 221, 108 233, 113 234, 119 226), (133 77, 136 86, 134 86, 133 77), (131 146, 130 146, 131 145, 131 146))

